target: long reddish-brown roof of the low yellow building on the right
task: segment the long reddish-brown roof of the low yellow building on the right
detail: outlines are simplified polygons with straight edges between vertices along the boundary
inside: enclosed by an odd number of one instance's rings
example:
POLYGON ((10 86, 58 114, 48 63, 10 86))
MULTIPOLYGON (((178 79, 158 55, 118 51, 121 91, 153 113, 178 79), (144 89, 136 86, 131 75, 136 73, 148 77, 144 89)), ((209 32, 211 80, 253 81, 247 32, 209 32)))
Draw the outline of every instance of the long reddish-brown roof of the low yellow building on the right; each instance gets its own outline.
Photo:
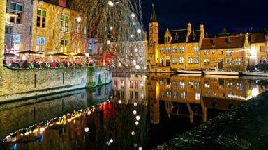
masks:
POLYGON ((201 50, 242 48, 244 47, 244 41, 244 35, 204 38, 202 40, 201 50))

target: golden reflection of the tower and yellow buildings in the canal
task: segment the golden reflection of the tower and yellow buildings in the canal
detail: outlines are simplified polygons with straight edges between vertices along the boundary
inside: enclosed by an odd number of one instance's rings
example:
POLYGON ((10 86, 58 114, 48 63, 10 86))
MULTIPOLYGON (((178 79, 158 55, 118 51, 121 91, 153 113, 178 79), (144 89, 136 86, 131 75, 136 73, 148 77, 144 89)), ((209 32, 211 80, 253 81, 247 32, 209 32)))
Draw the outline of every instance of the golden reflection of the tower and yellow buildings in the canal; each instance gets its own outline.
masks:
POLYGON ((228 110, 262 91, 259 91, 259 86, 255 83, 242 78, 181 74, 179 76, 150 74, 147 77, 147 99, 153 124, 158 124, 161 119, 160 101, 165 101, 165 112, 168 117, 187 115, 190 122, 193 122, 196 116, 202 116, 206 122, 211 118, 207 117, 208 109, 228 110))

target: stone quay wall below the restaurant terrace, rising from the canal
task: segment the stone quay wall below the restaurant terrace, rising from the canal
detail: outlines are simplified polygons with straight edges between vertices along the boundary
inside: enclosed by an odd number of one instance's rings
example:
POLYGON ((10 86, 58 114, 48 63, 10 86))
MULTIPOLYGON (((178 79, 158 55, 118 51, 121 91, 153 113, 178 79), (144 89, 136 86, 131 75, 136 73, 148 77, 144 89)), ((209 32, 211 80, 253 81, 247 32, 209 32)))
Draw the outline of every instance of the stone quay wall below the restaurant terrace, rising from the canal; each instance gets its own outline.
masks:
POLYGON ((80 88, 94 88, 112 81, 108 67, 69 67, 11 70, 2 68, 0 103, 80 88))

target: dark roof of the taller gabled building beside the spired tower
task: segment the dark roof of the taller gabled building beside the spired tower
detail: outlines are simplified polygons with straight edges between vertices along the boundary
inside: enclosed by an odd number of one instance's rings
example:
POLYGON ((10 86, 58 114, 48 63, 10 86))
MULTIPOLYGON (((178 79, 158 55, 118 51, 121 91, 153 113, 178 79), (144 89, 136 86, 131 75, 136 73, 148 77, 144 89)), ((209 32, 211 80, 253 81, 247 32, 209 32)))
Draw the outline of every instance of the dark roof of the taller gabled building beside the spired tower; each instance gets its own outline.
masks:
MULTIPOLYGON (((172 35, 171 43, 184 43, 187 38, 187 29, 172 30, 170 31, 172 35)), ((165 32, 159 32, 159 44, 165 44, 165 32)))

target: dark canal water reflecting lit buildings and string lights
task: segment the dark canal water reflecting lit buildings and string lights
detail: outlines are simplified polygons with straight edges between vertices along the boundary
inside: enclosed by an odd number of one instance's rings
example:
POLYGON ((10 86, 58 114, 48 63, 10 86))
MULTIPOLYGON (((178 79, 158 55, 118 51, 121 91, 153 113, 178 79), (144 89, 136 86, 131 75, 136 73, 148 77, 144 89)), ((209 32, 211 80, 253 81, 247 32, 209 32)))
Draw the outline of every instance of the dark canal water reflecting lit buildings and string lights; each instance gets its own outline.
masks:
POLYGON ((113 74, 112 83, 0 105, 0 149, 152 149, 264 92, 267 78, 113 74))

